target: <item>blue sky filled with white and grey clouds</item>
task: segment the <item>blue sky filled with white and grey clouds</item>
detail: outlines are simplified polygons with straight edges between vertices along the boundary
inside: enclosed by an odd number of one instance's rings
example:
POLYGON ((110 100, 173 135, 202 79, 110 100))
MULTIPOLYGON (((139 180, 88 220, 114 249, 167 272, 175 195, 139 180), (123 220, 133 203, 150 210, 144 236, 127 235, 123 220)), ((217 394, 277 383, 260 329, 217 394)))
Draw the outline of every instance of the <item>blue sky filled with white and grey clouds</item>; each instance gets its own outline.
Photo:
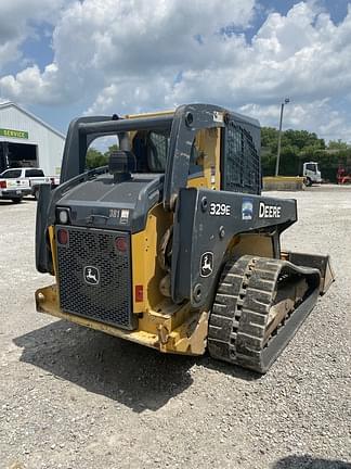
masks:
POLYGON ((0 102, 80 115, 208 102, 351 142, 351 0, 1 0, 0 102))

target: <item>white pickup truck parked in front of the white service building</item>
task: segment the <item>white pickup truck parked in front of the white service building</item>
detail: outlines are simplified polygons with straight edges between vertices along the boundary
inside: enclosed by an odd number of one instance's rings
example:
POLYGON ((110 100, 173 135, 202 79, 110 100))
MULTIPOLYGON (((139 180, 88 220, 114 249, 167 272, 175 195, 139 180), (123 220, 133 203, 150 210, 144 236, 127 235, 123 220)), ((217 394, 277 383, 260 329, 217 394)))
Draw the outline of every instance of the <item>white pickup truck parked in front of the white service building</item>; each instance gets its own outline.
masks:
POLYGON ((56 187, 60 183, 60 177, 46 176, 40 168, 20 167, 5 169, 0 174, 0 199, 20 203, 24 195, 34 195, 38 200, 39 187, 42 183, 56 187))

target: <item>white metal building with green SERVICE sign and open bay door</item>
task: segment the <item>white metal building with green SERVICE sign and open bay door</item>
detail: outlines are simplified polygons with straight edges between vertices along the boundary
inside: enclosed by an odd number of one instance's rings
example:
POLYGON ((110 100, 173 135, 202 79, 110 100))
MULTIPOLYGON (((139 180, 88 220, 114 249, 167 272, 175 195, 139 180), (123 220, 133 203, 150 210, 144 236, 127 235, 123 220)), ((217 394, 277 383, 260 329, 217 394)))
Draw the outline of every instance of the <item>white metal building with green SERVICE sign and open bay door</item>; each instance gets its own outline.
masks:
POLYGON ((60 175, 65 137, 13 102, 0 104, 0 173, 6 167, 40 167, 60 175))

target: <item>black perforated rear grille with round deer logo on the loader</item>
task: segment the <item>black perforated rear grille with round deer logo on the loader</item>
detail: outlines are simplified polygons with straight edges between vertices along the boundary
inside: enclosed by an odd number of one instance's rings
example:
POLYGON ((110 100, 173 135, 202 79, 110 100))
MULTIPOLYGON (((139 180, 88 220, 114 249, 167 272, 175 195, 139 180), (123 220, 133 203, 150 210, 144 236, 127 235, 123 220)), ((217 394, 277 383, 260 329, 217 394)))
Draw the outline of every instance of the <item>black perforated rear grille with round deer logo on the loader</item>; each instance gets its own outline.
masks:
POLYGON ((60 302, 64 312, 134 329, 131 308, 130 238, 126 232, 67 226, 68 243, 57 241, 60 302), (123 238, 127 251, 116 249, 123 238))

